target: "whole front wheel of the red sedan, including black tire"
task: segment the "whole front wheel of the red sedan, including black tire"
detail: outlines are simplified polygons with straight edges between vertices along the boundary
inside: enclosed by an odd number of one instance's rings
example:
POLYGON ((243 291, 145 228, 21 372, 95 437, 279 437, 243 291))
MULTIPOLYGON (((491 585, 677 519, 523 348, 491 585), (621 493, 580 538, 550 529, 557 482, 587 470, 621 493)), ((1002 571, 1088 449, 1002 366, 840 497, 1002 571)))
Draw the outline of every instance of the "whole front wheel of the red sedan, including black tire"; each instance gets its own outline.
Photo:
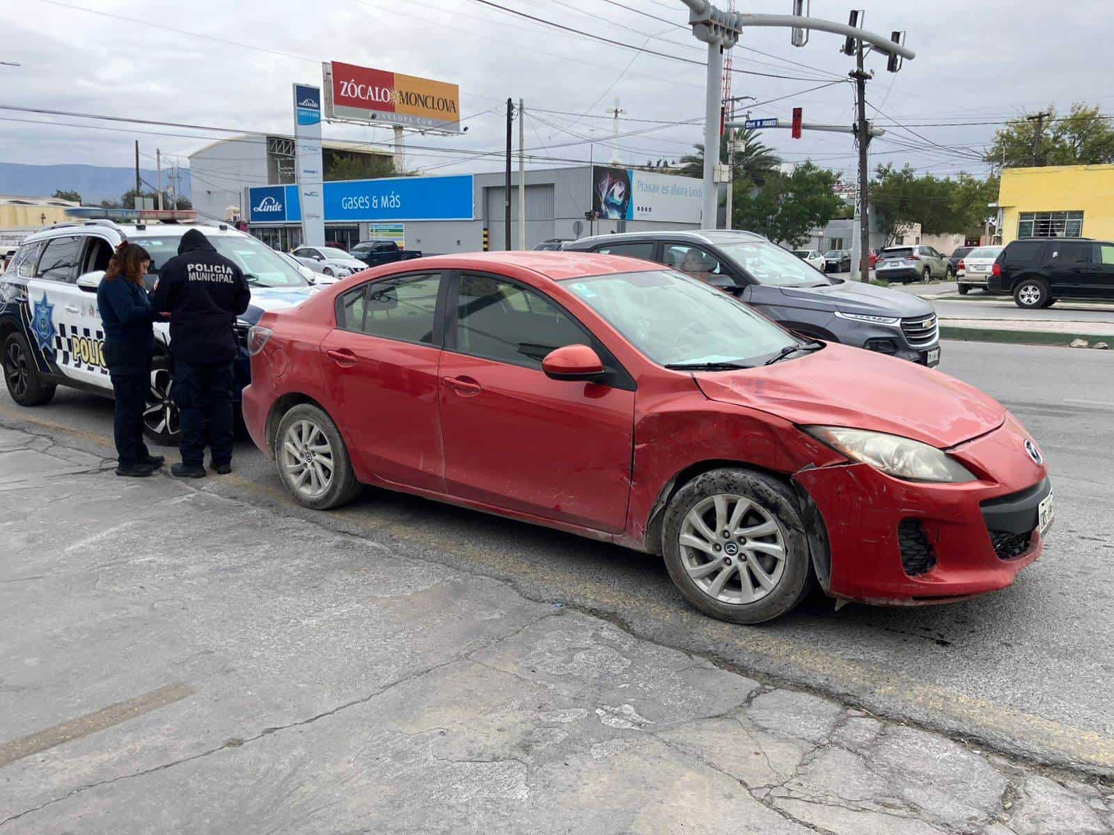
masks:
POLYGON ((705 615, 761 623, 804 599, 812 579, 797 498, 776 479, 712 470, 665 511, 663 553, 681 593, 705 615))

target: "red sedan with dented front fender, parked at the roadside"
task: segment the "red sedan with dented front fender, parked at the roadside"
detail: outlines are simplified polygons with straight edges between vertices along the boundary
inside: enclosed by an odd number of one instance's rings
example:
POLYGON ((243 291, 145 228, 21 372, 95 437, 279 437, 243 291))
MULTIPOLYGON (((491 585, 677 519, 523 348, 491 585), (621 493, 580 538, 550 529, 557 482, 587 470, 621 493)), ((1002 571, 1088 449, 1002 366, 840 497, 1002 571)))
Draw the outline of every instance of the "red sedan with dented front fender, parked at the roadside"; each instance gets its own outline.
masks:
POLYGON ((393 264, 248 338, 244 419, 302 504, 375 484, 616 542, 725 620, 814 580, 888 605, 1000 589, 1052 523, 1040 452, 991 397, 648 262, 393 264))

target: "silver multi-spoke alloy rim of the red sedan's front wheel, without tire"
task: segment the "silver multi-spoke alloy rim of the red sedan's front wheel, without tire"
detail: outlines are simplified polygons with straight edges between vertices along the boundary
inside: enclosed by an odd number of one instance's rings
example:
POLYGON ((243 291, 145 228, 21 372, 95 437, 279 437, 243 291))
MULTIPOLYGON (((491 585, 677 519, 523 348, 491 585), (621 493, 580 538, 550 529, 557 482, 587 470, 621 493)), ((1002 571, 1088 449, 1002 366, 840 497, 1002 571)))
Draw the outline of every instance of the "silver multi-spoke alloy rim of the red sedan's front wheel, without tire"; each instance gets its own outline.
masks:
POLYGON ((696 587, 721 603, 753 603, 785 573, 785 532, 765 508, 720 493, 694 507, 681 527, 681 560, 696 587))

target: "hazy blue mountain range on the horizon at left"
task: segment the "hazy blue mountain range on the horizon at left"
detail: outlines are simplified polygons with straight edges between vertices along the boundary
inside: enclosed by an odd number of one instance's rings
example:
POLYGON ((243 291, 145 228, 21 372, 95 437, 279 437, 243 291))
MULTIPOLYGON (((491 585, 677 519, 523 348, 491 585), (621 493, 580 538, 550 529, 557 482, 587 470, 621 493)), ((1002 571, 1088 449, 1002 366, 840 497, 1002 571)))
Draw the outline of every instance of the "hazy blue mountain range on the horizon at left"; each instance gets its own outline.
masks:
MULTIPOLYGON (((178 168, 182 193, 189 196, 189 169, 178 168)), ((147 184, 157 183, 152 168, 140 168, 139 176, 147 184)), ((50 197, 56 190, 77 191, 86 205, 101 200, 118 200, 120 195, 135 188, 135 168, 114 168, 99 165, 25 165, 0 163, 0 194, 21 197, 50 197)), ((163 168, 163 188, 169 185, 169 169, 163 168)), ((154 189, 152 189, 154 190, 154 189)))

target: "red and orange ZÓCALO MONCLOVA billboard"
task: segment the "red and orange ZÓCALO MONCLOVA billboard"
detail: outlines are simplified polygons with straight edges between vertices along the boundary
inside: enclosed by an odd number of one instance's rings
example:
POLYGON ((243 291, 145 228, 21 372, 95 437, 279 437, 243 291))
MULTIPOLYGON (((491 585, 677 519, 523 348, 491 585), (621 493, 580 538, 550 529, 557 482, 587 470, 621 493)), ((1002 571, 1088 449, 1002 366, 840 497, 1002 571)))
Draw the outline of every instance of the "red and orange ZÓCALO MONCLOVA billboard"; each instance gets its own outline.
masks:
POLYGON ((460 132, 460 88, 401 72, 326 61, 325 118, 460 132))

